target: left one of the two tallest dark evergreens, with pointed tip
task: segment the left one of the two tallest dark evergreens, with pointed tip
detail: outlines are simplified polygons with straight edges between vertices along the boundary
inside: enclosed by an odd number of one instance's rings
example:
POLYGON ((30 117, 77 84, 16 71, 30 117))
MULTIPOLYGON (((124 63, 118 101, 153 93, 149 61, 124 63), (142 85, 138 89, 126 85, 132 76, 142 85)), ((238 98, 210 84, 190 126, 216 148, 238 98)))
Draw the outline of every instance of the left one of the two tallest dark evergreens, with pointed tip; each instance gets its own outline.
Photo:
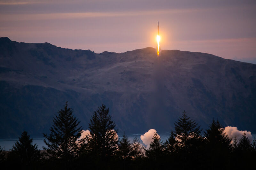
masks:
POLYGON ((64 110, 60 109, 58 115, 53 117, 53 124, 50 128, 50 135, 44 134, 43 147, 47 151, 48 157, 60 160, 64 168, 68 168, 69 163, 77 156, 77 139, 81 136, 81 126, 78 119, 73 115, 73 109, 68 108, 68 102, 64 110))

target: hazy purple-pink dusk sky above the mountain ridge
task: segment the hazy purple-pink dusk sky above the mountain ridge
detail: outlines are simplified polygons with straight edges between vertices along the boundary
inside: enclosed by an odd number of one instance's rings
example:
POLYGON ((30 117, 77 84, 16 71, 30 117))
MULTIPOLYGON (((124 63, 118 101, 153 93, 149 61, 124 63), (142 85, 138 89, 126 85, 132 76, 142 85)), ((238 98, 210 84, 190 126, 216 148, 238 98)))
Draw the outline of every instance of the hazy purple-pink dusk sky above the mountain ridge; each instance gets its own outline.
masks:
POLYGON ((255 0, 0 0, 0 37, 62 48, 204 52, 256 64, 255 0))

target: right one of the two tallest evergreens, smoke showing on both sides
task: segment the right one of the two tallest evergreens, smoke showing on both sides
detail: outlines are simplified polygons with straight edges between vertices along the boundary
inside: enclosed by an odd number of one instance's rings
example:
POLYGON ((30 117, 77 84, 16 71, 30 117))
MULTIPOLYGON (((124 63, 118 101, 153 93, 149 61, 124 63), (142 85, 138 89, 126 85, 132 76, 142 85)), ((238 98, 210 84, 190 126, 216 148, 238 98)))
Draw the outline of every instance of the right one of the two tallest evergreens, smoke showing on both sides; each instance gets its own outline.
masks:
POLYGON ((108 113, 109 109, 103 104, 93 113, 89 123, 90 136, 84 143, 85 154, 93 161, 101 162, 100 166, 106 166, 118 148, 116 124, 108 113))

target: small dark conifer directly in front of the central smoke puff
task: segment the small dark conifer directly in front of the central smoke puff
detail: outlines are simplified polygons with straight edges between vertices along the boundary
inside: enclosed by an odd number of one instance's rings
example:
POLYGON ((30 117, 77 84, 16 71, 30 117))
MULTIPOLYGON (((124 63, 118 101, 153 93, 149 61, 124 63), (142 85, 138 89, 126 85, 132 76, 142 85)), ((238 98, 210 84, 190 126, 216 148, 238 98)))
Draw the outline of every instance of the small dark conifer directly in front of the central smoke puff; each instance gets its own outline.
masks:
POLYGON ((152 137, 153 141, 150 142, 149 148, 145 149, 146 156, 154 161, 158 161, 163 156, 164 153, 164 145, 161 141, 161 138, 157 134, 157 132, 154 133, 154 136, 152 137))

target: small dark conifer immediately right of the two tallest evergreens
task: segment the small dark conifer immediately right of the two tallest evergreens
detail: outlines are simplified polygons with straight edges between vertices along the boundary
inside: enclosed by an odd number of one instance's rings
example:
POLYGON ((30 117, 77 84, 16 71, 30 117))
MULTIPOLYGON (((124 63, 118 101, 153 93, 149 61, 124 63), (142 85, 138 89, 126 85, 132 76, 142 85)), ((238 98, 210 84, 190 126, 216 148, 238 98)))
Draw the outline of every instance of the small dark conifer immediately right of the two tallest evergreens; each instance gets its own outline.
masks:
POLYGON ((119 149, 119 156, 123 160, 127 160, 131 158, 131 144, 130 141, 128 140, 128 137, 123 134, 123 138, 120 140, 120 146, 118 147, 119 149))

